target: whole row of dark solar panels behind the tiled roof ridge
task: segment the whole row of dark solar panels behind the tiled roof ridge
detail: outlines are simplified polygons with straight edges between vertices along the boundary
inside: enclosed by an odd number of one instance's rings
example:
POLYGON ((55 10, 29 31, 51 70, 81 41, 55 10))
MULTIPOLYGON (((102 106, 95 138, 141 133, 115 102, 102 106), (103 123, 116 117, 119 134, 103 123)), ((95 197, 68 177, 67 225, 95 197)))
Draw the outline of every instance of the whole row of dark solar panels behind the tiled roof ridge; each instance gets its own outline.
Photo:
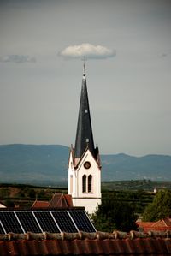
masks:
POLYGON ((0 234, 96 232, 85 211, 0 211, 0 234))

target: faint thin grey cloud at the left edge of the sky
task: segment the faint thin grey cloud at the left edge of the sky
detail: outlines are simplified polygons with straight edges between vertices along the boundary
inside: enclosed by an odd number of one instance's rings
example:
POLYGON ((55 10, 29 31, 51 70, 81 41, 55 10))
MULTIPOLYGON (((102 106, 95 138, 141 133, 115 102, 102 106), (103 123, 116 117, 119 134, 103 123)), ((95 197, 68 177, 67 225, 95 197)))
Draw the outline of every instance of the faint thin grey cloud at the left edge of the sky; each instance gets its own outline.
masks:
POLYGON ((28 55, 6 55, 0 57, 1 63, 36 63, 36 58, 28 55))

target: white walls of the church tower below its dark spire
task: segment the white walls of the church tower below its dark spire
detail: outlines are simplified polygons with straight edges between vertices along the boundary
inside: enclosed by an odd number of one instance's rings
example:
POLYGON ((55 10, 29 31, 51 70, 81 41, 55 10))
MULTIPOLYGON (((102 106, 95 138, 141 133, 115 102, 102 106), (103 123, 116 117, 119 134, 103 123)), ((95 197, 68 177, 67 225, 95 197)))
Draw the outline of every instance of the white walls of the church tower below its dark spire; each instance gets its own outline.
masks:
POLYGON ((68 168, 68 193, 74 206, 84 206, 92 214, 101 204, 101 169, 89 149, 85 151, 77 167, 70 153, 68 168))

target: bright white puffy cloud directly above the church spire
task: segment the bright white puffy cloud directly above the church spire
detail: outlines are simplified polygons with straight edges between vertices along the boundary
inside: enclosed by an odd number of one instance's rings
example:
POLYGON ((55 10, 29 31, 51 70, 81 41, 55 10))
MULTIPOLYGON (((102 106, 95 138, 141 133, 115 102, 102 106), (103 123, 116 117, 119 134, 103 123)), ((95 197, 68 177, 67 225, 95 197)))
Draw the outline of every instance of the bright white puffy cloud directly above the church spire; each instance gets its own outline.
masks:
POLYGON ((115 57, 115 50, 111 50, 102 45, 69 45, 67 48, 59 52, 59 55, 65 58, 86 57, 91 59, 104 59, 115 57))

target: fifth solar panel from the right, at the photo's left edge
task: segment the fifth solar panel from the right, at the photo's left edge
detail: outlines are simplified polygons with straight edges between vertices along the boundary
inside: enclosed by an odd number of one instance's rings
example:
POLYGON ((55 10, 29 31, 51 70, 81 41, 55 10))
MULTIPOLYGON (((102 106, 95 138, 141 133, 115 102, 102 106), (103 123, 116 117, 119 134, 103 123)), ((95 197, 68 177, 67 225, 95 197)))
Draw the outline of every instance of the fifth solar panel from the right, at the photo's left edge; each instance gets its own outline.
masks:
POLYGON ((21 229, 21 225, 15 217, 15 213, 13 211, 0 211, 0 221, 3 224, 1 234, 4 234, 4 230, 6 233, 23 233, 21 229), (3 230, 4 228, 4 230, 3 230))

